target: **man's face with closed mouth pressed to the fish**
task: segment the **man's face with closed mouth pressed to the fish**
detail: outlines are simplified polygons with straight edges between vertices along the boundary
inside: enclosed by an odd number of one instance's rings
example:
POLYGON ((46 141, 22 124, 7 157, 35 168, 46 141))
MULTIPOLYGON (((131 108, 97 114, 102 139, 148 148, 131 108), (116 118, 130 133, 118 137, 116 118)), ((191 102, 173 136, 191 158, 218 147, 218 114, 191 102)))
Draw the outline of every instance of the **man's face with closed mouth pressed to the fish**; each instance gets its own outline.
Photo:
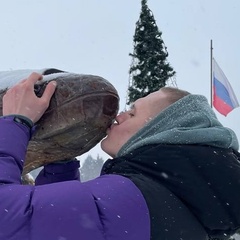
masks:
POLYGON ((107 130, 107 137, 101 142, 103 151, 115 157, 138 130, 167 106, 167 93, 161 90, 138 99, 130 110, 120 113, 115 123, 107 130))

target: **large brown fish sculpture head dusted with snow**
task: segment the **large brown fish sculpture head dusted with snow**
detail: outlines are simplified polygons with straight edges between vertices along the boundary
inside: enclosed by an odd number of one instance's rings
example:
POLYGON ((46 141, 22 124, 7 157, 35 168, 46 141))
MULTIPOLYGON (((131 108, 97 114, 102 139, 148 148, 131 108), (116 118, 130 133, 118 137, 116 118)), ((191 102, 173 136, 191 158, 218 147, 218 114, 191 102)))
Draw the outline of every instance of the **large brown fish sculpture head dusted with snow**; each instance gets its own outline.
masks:
MULTIPOLYGON (((0 72, 1 116, 2 96, 6 90, 33 71, 0 72)), ((42 95, 49 81, 57 81, 57 89, 48 109, 35 125, 23 174, 51 162, 72 159, 93 148, 106 136, 119 108, 116 89, 102 77, 57 69, 35 72, 47 74, 35 85, 37 96, 42 95)))

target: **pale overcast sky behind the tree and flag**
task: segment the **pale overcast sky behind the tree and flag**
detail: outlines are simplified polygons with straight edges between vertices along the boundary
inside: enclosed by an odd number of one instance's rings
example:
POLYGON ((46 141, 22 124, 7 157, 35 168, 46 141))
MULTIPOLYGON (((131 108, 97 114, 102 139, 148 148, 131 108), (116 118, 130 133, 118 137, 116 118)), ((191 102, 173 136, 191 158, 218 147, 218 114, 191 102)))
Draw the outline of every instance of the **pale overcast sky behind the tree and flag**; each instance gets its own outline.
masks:
MULTIPOLYGON (((7 0, 0 8, 0 71, 55 67, 105 77, 125 106, 140 0, 7 0)), ((148 0, 179 88, 210 98, 213 55, 240 102, 240 1, 148 0)), ((217 112, 216 112, 217 113, 217 112)), ((240 108, 223 125, 240 139, 240 108)), ((107 156, 97 146, 89 154, 107 156)), ((85 156, 85 154, 83 155, 85 156)), ((83 157, 82 156, 82 157, 83 157)))

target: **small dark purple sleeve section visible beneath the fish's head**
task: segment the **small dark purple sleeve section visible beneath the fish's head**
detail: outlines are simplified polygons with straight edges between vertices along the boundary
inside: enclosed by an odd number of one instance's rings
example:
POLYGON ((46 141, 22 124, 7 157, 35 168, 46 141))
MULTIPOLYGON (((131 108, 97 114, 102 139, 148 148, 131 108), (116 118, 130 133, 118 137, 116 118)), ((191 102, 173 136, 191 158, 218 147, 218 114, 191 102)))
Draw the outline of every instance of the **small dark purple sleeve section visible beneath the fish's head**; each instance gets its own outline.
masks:
POLYGON ((79 180, 80 163, 77 160, 65 163, 52 163, 46 165, 35 179, 35 185, 43 185, 62 181, 79 180))

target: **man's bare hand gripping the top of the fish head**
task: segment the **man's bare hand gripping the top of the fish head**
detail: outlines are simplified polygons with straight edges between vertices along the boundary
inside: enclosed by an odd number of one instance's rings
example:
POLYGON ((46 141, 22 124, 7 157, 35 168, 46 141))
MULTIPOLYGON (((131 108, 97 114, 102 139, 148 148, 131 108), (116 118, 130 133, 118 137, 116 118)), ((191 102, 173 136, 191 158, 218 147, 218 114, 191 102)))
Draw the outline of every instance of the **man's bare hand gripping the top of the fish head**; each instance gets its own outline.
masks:
POLYGON ((41 74, 32 73, 27 79, 10 88, 3 96, 3 115, 19 114, 36 123, 48 108, 56 89, 56 82, 51 81, 42 97, 37 97, 34 84, 41 79, 41 74))

